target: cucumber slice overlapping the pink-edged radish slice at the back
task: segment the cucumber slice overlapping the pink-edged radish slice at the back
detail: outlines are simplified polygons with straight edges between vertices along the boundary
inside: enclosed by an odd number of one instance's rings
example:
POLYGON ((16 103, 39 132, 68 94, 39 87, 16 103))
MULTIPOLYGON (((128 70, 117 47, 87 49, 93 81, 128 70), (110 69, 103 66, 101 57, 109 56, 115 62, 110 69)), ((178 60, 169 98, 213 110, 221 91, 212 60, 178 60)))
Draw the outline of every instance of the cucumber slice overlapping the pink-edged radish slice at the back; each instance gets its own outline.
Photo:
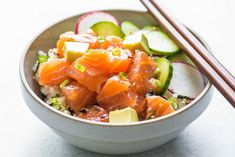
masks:
POLYGON ((98 35, 106 37, 108 35, 115 35, 119 37, 123 37, 123 33, 117 25, 110 21, 101 21, 98 23, 95 23, 91 26, 91 29, 98 35))

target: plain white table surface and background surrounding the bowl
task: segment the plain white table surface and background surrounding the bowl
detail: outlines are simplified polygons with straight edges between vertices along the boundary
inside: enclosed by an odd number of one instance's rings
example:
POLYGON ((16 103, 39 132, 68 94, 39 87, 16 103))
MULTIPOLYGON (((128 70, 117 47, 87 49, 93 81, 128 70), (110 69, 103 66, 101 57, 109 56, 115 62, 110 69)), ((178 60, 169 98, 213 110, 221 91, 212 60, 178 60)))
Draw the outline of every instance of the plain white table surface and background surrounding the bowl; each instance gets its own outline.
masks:
MULTIPOLYGON (((165 0, 165 5, 196 30, 235 75, 234 0, 165 0)), ((20 91, 19 58, 43 28, 93 9, 144 10, 137 0, 7 0, 0 4, 0 156, 104 156, 74 147, 54 134, 26 107, 20 91)), ((207 110, 175 140, 131 156, 235 156, 235 110, 215 91, 207 110)))

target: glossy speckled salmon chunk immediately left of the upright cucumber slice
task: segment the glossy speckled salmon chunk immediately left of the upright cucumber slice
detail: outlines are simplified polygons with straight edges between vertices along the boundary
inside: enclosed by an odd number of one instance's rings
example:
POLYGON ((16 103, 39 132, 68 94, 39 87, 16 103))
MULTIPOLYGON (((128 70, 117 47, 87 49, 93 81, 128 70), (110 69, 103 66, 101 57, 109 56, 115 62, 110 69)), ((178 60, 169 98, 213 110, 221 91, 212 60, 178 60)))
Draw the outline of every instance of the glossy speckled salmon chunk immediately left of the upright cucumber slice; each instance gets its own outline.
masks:
POLYGON ((154 76, 155 62, 144 52, 136 51, 133 64, 128 72, 132 90, 145 95, 153 90, 149 80, 154 76))

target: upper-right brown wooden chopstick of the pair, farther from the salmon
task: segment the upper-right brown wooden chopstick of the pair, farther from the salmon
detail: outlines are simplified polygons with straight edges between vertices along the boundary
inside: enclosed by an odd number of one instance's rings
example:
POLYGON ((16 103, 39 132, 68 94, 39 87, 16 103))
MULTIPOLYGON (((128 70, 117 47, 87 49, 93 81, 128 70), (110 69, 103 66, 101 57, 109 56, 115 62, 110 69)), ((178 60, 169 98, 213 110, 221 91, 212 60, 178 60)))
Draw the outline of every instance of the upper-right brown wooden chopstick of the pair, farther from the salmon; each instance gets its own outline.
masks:
POLYGON ((151 0, 159 12, 173 25, 173 27, 194 47, 194 49, 219 73, 221 77, 235 90, 235 78, 225 67, 190 33, 172 14, 159 2, 151 0))

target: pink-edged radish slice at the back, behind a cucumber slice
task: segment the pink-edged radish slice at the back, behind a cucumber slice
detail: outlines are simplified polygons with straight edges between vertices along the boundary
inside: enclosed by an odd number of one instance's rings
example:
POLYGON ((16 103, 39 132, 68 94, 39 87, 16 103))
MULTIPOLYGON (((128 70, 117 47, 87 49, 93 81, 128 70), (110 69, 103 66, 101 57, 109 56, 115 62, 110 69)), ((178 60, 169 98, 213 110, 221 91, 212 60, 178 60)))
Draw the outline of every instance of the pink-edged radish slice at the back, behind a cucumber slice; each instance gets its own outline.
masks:
POLYGON ((85 33, 93 24, 100 21, 110 21, 118 25, 118 21, 111 14, 103 11, 93 11, 82 15, 76 22, 75 34, 85 33))

